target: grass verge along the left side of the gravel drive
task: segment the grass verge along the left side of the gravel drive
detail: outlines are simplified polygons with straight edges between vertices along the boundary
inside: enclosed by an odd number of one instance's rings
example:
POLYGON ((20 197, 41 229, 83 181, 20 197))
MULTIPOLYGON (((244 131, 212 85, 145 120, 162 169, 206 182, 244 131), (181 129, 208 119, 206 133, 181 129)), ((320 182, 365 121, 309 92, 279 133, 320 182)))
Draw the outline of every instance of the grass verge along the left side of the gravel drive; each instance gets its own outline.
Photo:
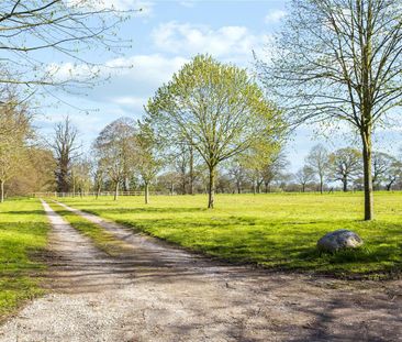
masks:
POLYGON ((48 227, 37 199, 0 205, 0 319, 43 294, 40 285, 45 266, 38 262, 38 253, 46 247, 48 227))

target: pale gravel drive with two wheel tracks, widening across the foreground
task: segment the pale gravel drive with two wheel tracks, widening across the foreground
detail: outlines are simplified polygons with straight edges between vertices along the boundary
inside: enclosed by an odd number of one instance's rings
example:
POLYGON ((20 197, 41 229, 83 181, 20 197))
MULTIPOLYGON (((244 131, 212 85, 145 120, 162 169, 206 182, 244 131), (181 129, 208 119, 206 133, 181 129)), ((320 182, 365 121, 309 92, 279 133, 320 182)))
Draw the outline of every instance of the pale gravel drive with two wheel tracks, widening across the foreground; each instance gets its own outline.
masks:
POLYGON ((125 241, 97 250, 45 202, 51 293, 0 341, 402 341, 402 284, 227 266, 76 211, 125 241))

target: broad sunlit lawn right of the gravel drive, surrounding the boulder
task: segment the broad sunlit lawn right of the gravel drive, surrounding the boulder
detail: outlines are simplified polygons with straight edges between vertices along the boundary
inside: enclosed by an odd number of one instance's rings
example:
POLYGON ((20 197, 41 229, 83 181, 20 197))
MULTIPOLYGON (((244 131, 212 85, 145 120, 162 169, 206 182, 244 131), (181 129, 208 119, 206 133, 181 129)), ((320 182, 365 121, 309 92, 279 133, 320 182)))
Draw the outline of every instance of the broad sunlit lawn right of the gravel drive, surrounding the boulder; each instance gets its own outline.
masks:
POLYGON ((64 202, 145 231, 187 249, 232 262, 337 276, 398 276, 402 268, 402 194, 376 194, 377 218, 364 222, 362 194, 221 195, 66 198, 64 202), (326 232, 350 229, 365 245, 320 254, 326 232))

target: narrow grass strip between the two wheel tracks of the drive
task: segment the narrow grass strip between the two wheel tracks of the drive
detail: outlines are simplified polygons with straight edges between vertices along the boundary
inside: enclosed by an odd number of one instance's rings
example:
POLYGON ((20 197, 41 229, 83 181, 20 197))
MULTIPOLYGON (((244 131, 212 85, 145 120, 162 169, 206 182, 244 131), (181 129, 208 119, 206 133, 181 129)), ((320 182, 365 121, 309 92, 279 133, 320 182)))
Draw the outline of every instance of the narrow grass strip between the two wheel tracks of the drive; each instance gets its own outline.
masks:
POLYGON ((127 245, 99 225, 89 222, 80 216, 48 201, 54 211, 69 222, 77 231, 92 240, 94 245, 110 256, 119 256, 127 251, 127 245))

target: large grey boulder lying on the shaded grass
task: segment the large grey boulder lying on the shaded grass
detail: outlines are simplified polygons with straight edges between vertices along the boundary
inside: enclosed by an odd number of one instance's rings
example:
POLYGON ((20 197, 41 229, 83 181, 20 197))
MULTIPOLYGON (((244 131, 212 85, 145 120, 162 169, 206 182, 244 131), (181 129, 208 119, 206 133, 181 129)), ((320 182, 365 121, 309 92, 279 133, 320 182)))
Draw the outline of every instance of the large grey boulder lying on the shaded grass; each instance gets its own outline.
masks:
POLYGON ((356 249, 362 245, 359 235, 347 229, 339 229, 325 234, 316 243, 320 251, 336 252, 344 249, 356 249))

